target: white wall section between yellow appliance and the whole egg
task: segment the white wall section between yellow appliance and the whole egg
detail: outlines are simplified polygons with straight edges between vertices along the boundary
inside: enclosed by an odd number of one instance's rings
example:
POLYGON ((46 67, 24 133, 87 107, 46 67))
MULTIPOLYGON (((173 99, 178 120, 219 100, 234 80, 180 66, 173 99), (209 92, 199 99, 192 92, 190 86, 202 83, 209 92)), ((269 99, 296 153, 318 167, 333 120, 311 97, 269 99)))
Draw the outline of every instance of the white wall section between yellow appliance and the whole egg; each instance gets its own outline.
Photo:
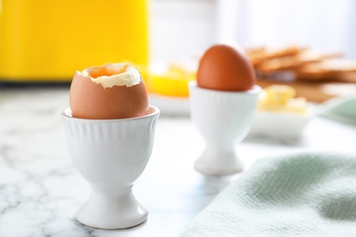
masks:
POLYGON ((152 61, 194 59, 215 42, 215 0, 152 0, 152 61))

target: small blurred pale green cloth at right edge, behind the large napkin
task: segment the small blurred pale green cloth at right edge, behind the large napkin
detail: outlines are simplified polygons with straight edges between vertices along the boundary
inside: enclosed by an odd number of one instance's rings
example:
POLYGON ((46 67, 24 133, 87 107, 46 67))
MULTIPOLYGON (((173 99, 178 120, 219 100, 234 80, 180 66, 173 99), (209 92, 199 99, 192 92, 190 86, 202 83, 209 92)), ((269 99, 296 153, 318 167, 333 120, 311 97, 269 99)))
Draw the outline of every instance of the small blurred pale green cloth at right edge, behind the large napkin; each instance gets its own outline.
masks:
POLYGON ((319 115, 325 118, 356 124, 356 96, 334 98, 320 105, 319 115))

